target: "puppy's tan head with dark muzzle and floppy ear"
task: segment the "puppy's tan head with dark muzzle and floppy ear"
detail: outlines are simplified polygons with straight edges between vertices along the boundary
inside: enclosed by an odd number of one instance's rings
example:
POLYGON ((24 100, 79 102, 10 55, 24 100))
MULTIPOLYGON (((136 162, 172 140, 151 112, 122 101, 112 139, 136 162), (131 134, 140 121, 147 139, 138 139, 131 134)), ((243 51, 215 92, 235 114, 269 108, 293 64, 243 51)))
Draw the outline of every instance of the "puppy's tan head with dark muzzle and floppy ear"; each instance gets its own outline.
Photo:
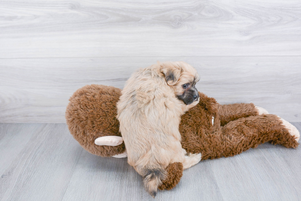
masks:
POLYGON ((195 84, 200 77, 192 66, 183 61, 165 62, 161 64, 161 72, 179 100, 186 105, 198 103, 199 94, 195 84))

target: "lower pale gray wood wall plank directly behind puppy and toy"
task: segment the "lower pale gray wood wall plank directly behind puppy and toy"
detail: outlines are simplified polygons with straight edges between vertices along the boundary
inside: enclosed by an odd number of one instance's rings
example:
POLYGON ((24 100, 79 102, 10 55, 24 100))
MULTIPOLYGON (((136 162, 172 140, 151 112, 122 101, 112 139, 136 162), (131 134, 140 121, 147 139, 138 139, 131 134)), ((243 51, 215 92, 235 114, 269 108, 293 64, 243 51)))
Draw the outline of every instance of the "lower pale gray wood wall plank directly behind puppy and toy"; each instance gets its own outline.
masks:
POLYGON ((301 122, 301 56, 92 57, 0 59, 0 122, 64 123, 69 97, 87 84, 123 88, 138 68, 192 64, 197 89, 221 104, 253 102, 301 122))

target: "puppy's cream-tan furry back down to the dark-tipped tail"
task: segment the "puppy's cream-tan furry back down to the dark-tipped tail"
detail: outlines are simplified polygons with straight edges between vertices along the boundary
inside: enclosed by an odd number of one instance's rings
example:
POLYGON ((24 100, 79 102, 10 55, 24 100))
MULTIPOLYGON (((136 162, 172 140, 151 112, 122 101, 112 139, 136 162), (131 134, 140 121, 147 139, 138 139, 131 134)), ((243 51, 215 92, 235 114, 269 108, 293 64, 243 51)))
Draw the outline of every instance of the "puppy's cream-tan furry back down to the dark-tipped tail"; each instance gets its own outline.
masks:
POLYGON ((165 168, 182 151, 180 104, 155 65, 131 76, 117 104, 128 163, 143 176, 152 196, 165 176, 165 168))

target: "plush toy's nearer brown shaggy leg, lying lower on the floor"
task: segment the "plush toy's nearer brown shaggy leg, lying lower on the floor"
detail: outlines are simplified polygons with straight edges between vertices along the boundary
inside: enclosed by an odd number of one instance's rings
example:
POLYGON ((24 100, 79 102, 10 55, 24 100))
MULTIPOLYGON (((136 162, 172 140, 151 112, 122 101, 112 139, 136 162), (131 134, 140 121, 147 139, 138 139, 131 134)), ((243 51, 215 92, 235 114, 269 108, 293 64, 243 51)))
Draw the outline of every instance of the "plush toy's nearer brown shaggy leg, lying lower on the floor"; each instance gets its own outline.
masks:
POLYGON ((296 130, 273 114, 240 118, 207 137, 202 160, 234 156, 268 141, 287 148, 297 148, 299 132, 291 131, 296 130))

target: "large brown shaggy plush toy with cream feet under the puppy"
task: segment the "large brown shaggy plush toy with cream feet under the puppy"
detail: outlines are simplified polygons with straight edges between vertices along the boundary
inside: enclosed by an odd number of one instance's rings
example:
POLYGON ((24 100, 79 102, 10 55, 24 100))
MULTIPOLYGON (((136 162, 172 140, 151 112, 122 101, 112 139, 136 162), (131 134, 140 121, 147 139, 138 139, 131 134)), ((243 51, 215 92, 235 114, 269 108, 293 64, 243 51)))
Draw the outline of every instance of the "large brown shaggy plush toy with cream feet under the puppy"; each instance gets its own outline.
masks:
MULTIPOLYGON (((102 157, 126 157, 116 118, 121 90, 87 85, 69 99, 66 120, 70 133, 88 152, 102 157)), ((297 148, 300 138, 295 126, 252 103, 219 105, 200 93, 200 102, 182 116, 179 131, 182 148, 201 153, 201 160, 240 154, 270 142, 297 148)), ((182 177, 181 163, 170 164, 159 189, 173 188, 182 177)))

